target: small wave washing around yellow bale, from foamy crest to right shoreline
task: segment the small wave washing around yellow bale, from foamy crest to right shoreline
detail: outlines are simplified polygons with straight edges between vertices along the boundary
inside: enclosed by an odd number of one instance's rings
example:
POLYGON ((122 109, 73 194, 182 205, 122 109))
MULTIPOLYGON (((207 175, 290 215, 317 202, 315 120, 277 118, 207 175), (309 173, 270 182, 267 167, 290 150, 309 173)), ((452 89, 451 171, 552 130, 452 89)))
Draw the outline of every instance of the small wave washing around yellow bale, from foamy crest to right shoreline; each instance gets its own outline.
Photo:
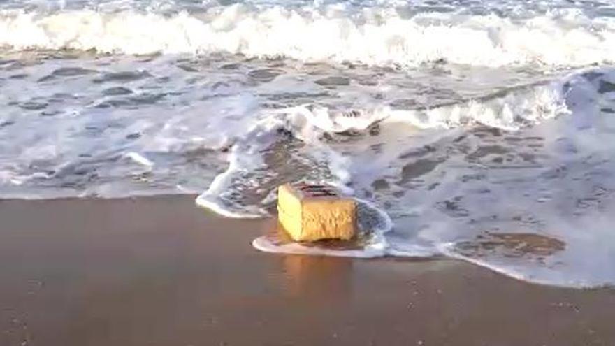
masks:
POLYGON ((581 71, 549 85, 402 114, 277 110, 236 143, 219 175, 224 184, 212 184, 197 203, 205 199, 224 215, 252 217, 255 208, 266 212, 277 183, 307 178, 374 201, 393 220, 386 229, 395 232, 379 233, 382 241, 364 250, 267 237, 254 247, 349 257, 439 254, 541 284, 612 284, 614 76, 608 69, 581 71), (375 145, 374 126, 386 138, 375 145), (288 154, 289 147, 276 143, 289 134, 304 149, 291 155, 304 155, 313 169, 277 174, 271 157, 288 154), (254 199, 250 187, 265 188, 254 199))

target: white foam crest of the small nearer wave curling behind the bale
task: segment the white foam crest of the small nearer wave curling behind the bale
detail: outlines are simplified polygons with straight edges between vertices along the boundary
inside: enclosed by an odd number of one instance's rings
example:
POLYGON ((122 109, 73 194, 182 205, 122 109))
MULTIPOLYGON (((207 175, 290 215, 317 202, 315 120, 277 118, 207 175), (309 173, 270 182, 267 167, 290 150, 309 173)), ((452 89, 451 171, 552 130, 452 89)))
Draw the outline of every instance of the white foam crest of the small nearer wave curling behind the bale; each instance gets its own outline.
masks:
MULTIPOLYGON (((261 111, 254 115, 254 125, 243 136, 236 138, 236 144, 228 155, 229 166, 226 171, 218 175, 212 185, 198 196, 196 203, 229 217, 252 218, 268 215, 260 206, 246 206, 236 197, 230 196, 242 194, 243 190, 263 183, 259 180, 263 178, 263 173, 251 173, 271 169, 263 162, 263 151, 275 143, 278 129, 290 131, 294 138, 309 145, 310 151, 307 154, 310 157, 317 158, 317 161, 326 161, 332 175, 326 179, 327 184, 334 185, 347 194, 353 194, 354 190, 347 187, 347 184, 359 178, 356 176, 357 168, 352 167, 351 158, 345 157, 325 143, 322 140, 323 134, 366 131, 377 123, 386 123, 391 127, 404 123, 421 129, 456 128, 472 124, 519 129, 567 113, 561 92, 562 83, 563 81, 558 80, 549 85, 512 90, 502 96, 482 101, 472 100, 428 110, 393 110, 388 106, 376 106, 345 113, 323 106, 304 105, 261 111)), ((373 164, 375 161, 371 162, 371 165, 373 164)), ((363 176, 361 179, 368 182, 375 180, 388 164, 389 161, 384 161, 379 169, 370 170, 369 177, 363 176)), ((362 171, 361 175, 366 175, 363 168, 359 169, 362 171)))

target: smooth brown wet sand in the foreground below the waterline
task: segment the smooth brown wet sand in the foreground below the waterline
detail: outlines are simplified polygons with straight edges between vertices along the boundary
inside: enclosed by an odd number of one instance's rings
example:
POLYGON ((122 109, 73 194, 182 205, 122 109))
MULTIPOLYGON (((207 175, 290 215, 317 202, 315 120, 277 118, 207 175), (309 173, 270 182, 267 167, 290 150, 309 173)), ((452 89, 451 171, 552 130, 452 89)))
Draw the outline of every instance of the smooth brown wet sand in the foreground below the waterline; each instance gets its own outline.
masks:
POLYGON ((615 345, 615 289, 265 254, 193 200, 0 201, 0 345, 615 345))

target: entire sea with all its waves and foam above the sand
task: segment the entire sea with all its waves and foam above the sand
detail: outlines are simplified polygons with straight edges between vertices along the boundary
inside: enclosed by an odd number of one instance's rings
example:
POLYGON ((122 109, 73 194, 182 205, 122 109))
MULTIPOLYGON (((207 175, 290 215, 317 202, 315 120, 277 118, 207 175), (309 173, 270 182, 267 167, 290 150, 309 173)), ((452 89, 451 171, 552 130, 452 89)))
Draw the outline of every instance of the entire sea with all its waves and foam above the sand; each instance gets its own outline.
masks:
POLYGON ((615 6, 4 1, 0 197, 200 194, 266 217, 326 182, 382 221, 336 256, 615 284, 615 6))

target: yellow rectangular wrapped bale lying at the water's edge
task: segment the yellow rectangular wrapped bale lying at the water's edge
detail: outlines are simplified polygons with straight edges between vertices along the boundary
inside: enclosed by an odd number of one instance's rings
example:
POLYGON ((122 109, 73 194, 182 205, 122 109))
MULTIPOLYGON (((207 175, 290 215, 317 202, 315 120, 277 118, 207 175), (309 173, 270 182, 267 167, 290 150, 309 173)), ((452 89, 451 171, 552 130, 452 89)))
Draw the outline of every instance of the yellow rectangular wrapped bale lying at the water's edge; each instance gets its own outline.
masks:
POLYGON ((349 240, 356 229, 356 203, 332 187, 285 184, 277 190, 277 212, 295 241, 349 240))

